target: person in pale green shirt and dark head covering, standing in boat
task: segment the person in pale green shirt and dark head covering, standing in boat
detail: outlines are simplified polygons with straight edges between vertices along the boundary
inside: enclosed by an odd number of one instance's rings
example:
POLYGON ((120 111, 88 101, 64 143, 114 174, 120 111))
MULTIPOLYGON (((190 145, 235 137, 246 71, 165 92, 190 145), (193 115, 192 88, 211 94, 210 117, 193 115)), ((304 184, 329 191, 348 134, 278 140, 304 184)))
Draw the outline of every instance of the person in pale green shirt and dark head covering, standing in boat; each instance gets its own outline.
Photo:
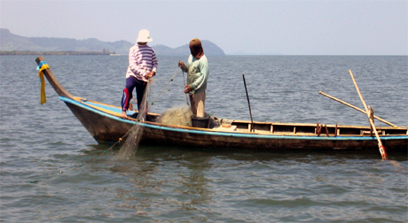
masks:
POLYGON ((208 61, 202 50, 201 42, 197 38, 190 41, 191 55, 188 58, 187 65, 178 62, 178 66, 188 73, 187 85, 184 86, 184 93, 190 95, 192 104, 192 114, 197 117, 204 117, 204 105, 206 101, 206 89, 208 80, 208 61))

